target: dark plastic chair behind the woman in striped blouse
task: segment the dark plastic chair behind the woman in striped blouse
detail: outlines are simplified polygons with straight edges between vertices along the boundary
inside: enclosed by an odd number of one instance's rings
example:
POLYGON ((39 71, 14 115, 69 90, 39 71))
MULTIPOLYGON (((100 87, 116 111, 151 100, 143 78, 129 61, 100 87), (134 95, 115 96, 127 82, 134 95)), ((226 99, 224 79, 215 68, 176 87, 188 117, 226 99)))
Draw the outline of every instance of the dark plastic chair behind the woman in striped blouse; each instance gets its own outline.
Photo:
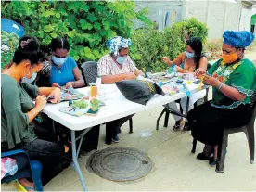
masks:
MULTIPOLYGON (((85 81, 85 85, 89 86, 90 83, 96 83, 97 78, 97 62, 87 61, 81 65, 82 75, 85 81)), ((129 120, 130 134, 133 133, 133 118, 129 120)))

